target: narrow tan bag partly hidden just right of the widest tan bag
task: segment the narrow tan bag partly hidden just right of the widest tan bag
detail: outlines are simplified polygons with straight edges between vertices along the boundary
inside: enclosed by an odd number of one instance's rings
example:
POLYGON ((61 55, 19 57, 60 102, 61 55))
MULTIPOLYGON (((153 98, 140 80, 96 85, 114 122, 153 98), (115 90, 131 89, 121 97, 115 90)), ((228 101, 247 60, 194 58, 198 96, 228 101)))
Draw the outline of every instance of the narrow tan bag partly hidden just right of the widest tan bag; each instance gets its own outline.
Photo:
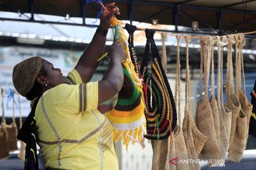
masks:
MULTIPOLYGON (((212 41, 211 45, 214 45, 212 41)), ((218 111, 218 104, 215 99, 215 78, 214 78, 214 50, 213 46, 211 47, 211 93, 210 93, 210 108, 213 113, 213 123, 215 128, 215 134, 217 137, 218 148, 220 147, 220 114, 218 111)))

